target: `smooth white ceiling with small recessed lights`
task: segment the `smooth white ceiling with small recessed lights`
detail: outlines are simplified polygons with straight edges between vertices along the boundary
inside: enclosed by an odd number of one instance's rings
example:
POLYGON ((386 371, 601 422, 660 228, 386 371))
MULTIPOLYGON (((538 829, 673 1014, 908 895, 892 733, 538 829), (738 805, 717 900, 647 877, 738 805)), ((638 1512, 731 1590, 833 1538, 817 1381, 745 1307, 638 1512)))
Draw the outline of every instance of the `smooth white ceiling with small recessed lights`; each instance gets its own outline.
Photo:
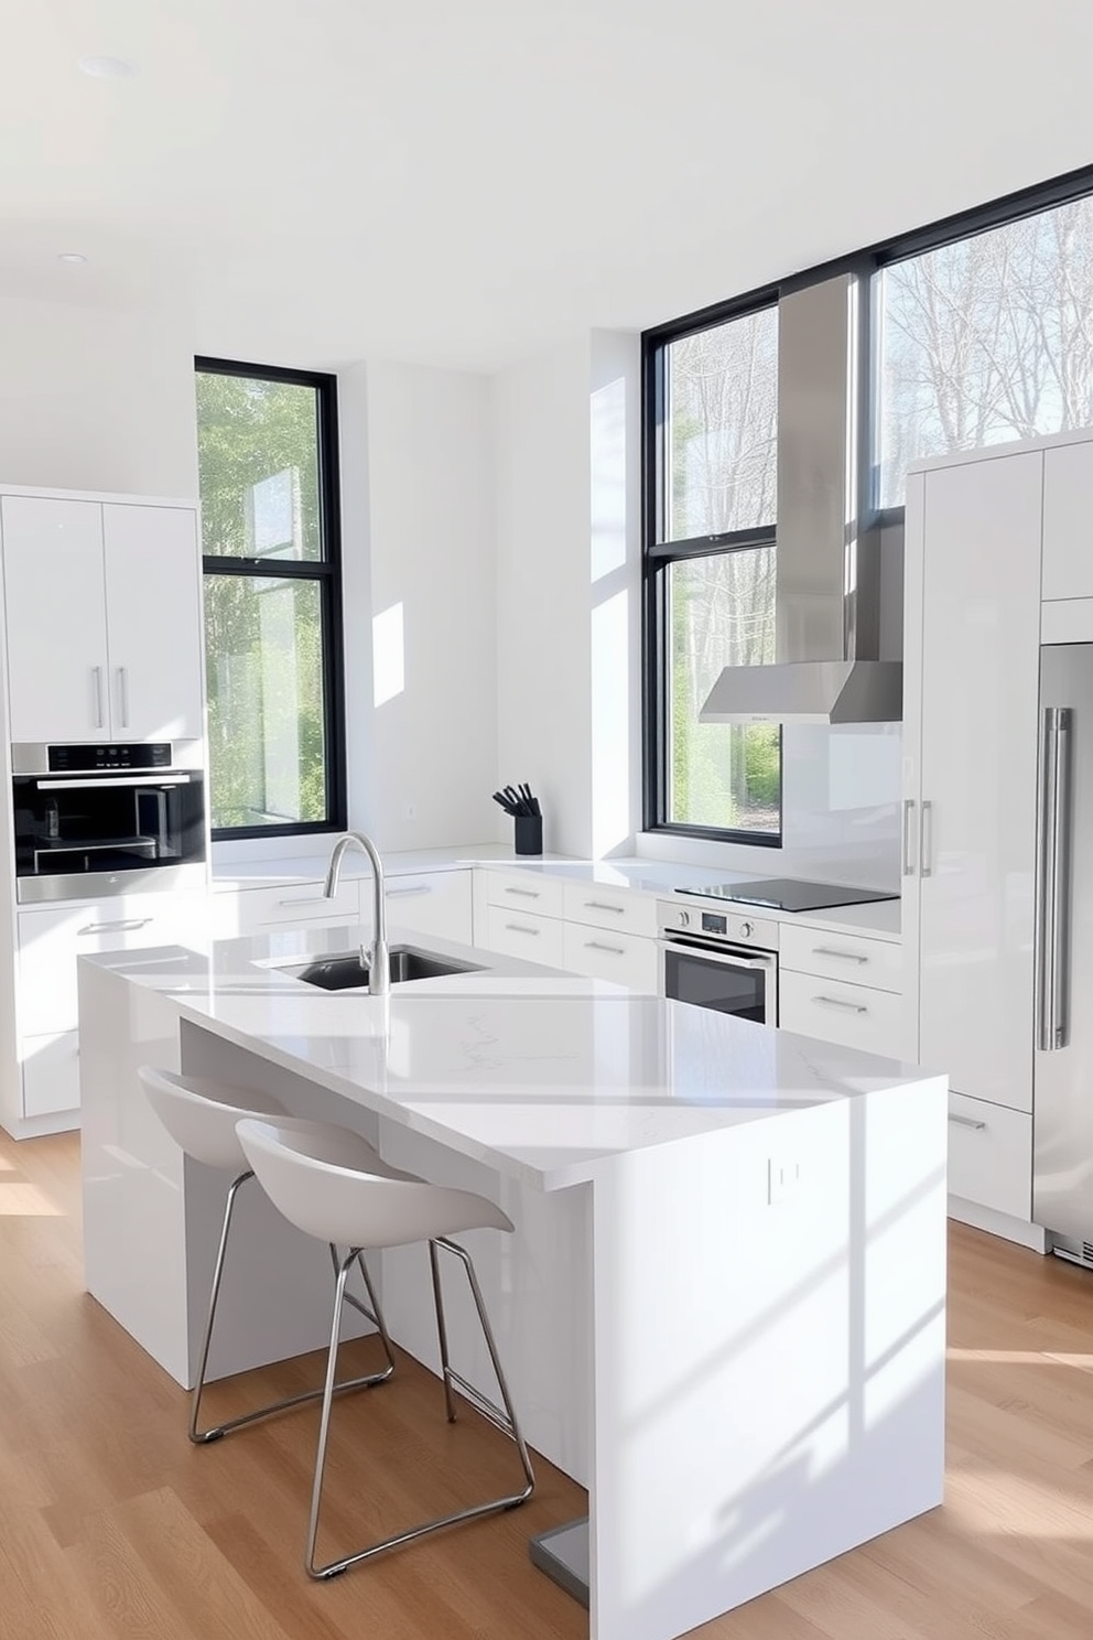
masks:
POLYGON ((1090 0, 3 0, 0 30, 0 295, 184 303, 262 362, 497 369, 1093 159, 1090 0))

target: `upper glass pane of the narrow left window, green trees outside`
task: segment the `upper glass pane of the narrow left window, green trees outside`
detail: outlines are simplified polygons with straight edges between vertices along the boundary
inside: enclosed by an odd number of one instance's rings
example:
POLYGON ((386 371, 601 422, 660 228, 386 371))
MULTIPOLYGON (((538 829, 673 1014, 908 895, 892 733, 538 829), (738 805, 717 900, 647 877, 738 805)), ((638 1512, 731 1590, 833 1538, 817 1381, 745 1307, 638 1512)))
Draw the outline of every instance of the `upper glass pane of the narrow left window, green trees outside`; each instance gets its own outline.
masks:
POLYGON ((206 556, 323 558, 316 412, 315 387, 197 372, 206 556))

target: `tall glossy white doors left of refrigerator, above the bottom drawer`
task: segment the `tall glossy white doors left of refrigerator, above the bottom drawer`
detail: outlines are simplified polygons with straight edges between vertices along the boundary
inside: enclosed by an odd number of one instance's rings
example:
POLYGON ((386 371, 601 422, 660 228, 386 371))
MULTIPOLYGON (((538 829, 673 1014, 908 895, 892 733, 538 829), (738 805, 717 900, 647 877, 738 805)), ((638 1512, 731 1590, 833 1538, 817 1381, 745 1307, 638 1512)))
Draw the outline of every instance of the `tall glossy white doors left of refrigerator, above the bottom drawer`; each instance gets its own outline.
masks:
POLYGON ((908 479, 905 1055, 1032 1107, 1044 453, 908 479))

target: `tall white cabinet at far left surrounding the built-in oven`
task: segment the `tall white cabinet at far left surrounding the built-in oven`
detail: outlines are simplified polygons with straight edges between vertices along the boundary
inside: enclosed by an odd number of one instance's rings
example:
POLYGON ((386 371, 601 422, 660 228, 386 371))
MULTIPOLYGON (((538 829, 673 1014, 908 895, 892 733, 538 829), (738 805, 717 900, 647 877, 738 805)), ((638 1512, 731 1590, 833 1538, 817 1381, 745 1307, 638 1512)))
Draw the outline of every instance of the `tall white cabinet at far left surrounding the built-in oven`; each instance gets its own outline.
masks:
POLYGON ((0 485, 0 1125, 25 1138, 79 1125, 77 956, 203 933, 202 889, 90 899, 74 879, 20 904, 10 759, 25 741, 203 746, 197 507, 0 485))

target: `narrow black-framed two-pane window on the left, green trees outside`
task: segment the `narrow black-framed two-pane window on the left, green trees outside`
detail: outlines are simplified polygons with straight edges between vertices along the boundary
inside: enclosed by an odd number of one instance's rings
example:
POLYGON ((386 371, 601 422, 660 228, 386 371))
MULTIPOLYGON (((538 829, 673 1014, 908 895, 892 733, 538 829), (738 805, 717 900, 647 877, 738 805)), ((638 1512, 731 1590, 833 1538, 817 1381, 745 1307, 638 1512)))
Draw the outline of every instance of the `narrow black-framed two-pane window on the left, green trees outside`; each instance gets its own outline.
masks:
POLYGON ((341 828, 338 382, 195 372, 213 836, 341 828))

